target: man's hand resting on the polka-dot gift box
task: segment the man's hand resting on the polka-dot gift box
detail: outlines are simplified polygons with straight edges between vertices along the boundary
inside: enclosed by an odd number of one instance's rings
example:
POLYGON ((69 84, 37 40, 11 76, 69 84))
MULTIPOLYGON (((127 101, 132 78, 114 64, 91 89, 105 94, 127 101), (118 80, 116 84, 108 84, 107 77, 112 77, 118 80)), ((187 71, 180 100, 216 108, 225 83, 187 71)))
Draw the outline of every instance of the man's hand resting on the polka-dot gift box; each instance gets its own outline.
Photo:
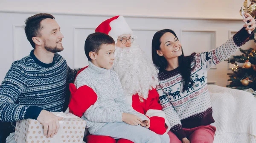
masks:
POLYGON ((63 117, 58 117, 51 112, 42 110, 37 118, 37 121, 39 121, 44 126, 44 135, 47 137, 53 137, 54 134, 57 134, 60 127, 58 121, 62 119, 63 117))

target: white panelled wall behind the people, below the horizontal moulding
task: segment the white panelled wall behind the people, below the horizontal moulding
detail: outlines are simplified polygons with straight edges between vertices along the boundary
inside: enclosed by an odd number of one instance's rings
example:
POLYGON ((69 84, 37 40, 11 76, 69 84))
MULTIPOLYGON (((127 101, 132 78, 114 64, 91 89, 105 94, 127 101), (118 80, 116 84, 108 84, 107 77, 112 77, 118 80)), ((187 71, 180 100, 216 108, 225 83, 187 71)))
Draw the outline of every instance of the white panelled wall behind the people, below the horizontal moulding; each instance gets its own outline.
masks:
MULTIPOLYGON (((0 12, 0 81, 6 75, 12 62, 29 55, 32 46, 26 39, 23 30, 24 21, 35 13, 0 12)), ((64 35, 62 41, 64 50, 60 52, 71 68, 84 67, 88 64, 84 53, 84 41, 94 32, 94 29, 111 16, 53 14, 64 35)), ((137 44, 151 59, 151 41, 154 33, 161 29, 170 28, 175 31, 181 41, 184 52, 203 52, 220 46, 235 31, 239 31, 244 23, 241 20, 191 19, 174 17, 125 17, 128 25, 137 36, 137 44)), ((244 48, 255 46, 248 42, 244 48)), ((226 86, 227 62, 221 62, 216 69, 208 72, 208 83, 226 86)))

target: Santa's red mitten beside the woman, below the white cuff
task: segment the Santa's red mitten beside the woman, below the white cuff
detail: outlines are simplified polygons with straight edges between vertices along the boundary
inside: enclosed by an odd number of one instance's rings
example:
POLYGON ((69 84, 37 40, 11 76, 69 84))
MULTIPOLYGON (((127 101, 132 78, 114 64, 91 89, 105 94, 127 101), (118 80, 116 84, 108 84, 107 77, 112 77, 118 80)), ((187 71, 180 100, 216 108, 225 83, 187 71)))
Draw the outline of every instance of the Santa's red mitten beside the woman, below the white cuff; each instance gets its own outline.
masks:
POLYGON ((166 132, 165 120, 163 117, 153 116, 150 119, 149 129, 158 135, 163 135, 166 132))

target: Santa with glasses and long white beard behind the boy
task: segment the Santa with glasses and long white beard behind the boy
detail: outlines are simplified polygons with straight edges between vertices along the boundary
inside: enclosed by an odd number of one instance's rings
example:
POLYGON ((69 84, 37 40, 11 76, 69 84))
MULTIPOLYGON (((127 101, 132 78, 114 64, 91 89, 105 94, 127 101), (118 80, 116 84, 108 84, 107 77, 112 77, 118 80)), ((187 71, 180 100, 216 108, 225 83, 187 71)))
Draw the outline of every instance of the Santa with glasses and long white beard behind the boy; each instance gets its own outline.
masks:
MULTIPOLYGON (((124 17, 116 16, 105 20, 95 31, 108 34, 116 41, 116 57, 113 70, 119 74, 128 102, 135 110, 149 117, 150 130, 159 135, 168 132, 170 124, 158 103, 159 95, 155 89, 158 83, 157 69, 152 61, 145 56, 139 45, 134 42, 133 32, 124 17)), ((81 93, 81 91, 79 92, 81 93)), ((79 95, 79 92, 76 95, 79 95)), ((76 95, 74 94, 74 96, 76 95)), ((78 102, 74 101, 74 103, 78 102)), ((89 107, 87 105, 85 108, 81 108, 79 105, 74 105, 72 104, 71 107, 69 105, 70 112, 78 112, 77 107, 79 107, 82 109, 79 111, 80 115, 89 107), (76 111, 72 109, 76 109, 76 111)), ((116 140, 107 136, 88 135, 85 139, 87 143, 116 143, 116 140)), ((120 139, 118 143, 132 142, 120 139)))

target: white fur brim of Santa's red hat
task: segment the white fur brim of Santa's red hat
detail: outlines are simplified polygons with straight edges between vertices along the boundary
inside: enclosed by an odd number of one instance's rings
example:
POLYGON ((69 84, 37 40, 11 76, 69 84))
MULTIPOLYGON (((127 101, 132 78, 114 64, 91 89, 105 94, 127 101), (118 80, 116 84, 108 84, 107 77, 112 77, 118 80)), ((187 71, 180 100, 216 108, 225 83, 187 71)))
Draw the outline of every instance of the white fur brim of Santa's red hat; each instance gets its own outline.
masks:
POLYGON ((125 18, 122 16, 119 16, 116 20, 110 22, 109 25, 111 30, 109 31, 108 35, 113 39, 117 39, 117 37, 124 34, 132 34, 131 28, 126 23, 125 18))

